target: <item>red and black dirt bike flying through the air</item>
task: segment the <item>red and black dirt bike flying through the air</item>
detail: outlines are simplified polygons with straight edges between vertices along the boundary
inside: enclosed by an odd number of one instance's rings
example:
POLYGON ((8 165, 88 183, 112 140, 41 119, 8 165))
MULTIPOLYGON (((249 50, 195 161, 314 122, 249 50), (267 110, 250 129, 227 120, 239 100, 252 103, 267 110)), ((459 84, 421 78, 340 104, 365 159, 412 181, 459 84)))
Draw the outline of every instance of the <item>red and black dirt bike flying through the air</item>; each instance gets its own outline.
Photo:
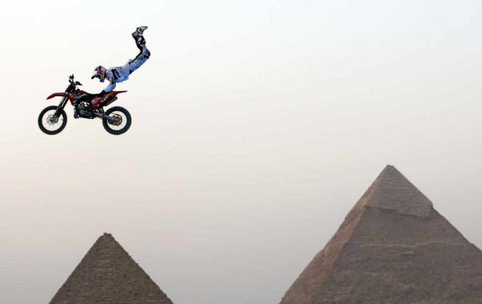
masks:
POLYGON ((78 88, 80 82, 74 82, 74 75, 69 76, 69 86, 64 93, 53 93, 47 99, 62 97, 58 105, 51 105, 40 112, 39 127, 42 132, 54 135, 60 133, 67 124, 64 107, 67 100, 74 107, 74 118, 100 118, 104 129, 110 134, 119 135, 131 126, 131 114, 123 107, 114 106, 104 112, 104 107, 117 100, 117 94, 127 91, 111 91, 100 94, 89 94, 78 88))

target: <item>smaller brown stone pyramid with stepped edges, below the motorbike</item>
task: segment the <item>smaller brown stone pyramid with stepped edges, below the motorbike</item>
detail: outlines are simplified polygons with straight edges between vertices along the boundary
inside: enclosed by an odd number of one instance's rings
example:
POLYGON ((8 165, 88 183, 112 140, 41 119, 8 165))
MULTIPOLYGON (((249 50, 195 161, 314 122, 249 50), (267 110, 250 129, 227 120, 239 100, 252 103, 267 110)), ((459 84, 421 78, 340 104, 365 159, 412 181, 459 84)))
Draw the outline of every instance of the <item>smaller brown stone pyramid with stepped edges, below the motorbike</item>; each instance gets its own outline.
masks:
POLYGON ((50 304, 172 304, 108 233, 101 235, 50 304))

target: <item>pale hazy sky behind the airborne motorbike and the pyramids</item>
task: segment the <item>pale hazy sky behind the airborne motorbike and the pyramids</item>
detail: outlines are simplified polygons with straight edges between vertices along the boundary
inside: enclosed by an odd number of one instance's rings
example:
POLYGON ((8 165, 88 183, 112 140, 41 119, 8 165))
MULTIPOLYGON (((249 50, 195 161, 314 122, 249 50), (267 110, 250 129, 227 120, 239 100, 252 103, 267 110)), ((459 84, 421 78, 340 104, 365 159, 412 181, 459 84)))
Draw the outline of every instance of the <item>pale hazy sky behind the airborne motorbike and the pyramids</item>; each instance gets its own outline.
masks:
POLYGON ((0 302, 48 303, 104 232, 175 304, 276 304, 386 165, 482 248, 479 1, 0 3, 0 302), (98 65, 132 126, 42 133, 98 65))

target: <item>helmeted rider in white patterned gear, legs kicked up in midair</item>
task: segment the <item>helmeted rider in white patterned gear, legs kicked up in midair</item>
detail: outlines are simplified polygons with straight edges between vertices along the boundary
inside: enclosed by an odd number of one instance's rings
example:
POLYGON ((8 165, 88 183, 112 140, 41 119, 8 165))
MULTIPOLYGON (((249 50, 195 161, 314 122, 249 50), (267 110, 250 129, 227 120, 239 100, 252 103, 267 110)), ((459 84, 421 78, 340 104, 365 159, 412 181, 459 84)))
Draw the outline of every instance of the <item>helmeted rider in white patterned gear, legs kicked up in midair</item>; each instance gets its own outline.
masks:
POLYGON ((124 80, 129 79, 129 75, 149 59, 151 52, 146 48, 146 40, 143 36, 143 32, 146 29, 147 27, 138 27, 136 31, 132 33, 132 37, 136 40, 137 47, 141 50, 135 59, 129 60, 121 67, 111 67, 106 69, 99 65, 95 68, 91 79, 96 77, 100 82, 104 82, 105 79, 109 81, 109 85, 99 93, 99 96, 112 91, 115 88, 116 82, 123 82, 124 80))

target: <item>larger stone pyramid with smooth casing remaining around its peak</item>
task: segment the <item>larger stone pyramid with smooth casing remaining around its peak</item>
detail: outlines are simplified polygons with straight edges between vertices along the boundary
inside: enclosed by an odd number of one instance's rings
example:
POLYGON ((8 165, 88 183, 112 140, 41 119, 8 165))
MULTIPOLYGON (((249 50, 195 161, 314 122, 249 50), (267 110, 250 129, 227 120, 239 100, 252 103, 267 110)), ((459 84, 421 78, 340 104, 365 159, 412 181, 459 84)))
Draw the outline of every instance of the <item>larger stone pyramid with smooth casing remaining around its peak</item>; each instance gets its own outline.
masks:
POLYGON ((482 303, 482 251, 393 166, 280 304, 482 303))

